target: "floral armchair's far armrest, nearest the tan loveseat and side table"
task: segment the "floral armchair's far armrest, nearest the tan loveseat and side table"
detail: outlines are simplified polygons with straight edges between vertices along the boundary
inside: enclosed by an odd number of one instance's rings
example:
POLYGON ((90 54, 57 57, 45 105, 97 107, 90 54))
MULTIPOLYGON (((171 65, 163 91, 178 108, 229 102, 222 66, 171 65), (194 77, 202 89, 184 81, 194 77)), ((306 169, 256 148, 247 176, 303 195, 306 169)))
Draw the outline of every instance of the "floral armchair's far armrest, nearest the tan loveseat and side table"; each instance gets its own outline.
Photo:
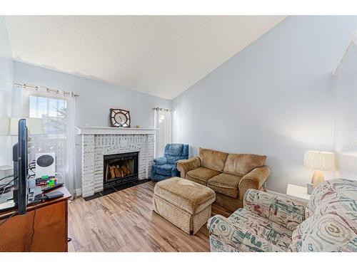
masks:
POLYGON ((303 204, 255 189, 246 192, 243 207, 291 231, 305 220, 303 204))

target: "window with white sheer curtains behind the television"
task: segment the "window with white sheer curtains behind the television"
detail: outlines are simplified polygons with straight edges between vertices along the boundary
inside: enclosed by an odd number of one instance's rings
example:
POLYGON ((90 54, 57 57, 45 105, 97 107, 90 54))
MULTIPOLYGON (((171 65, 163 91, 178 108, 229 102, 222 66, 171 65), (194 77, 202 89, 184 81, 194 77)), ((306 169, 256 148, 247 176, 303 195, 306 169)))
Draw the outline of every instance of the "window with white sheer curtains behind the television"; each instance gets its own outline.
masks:
POLYGON ((19 90, 19 96, 15 97, 19 107, 17 111, 15 108, 13 113, 18 117, 41 118, 44 125, 44 135, 29 133, 29 161, 35 159, 36 153, 39 152, 56 153, 57 176, 63 179, 66 188, 75 197, 74 93, 64 93, 60 90, 51 92, 46 88, 19 90))

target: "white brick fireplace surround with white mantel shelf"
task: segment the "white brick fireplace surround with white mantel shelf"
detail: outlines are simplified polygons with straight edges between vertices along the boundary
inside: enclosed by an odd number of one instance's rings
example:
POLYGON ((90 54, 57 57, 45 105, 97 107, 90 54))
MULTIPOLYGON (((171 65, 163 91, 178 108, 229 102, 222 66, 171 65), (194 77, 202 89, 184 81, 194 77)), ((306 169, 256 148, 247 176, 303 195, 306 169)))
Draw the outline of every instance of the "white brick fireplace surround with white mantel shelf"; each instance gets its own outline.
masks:
POLYGON ((139 179, 151 175, 155 129, 77 127, 82 138, 82 196, 103 191, 104 155, 139 152, 139 179))

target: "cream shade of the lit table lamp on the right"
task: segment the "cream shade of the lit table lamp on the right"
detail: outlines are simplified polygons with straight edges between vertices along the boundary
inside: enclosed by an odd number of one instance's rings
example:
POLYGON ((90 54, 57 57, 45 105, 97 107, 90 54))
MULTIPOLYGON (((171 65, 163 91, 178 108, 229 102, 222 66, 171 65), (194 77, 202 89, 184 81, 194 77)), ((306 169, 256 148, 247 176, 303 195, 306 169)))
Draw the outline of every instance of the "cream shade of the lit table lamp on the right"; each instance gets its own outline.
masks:
POLYGON ((334 171, 336 170, 336 156, 333 152, 307 150, 303 155, 303 164, 321 171, 334 171))

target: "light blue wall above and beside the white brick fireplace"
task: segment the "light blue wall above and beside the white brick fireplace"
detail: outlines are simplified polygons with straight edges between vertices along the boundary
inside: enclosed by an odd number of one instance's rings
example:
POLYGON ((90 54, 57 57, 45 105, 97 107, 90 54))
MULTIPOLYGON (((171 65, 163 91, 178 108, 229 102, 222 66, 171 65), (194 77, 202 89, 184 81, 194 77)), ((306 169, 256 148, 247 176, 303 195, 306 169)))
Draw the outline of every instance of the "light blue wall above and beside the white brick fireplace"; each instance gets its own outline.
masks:
MULTIPOLYGON (((73 91, 76 98, 76 125, 110 126, 109 109, 130 110, 131 125, 154 126, 153 108, 171 109, 171 101, 116 85, 61 73, 14 61, 14 82, 73 91)), ((14 96, 15 97, 15 96, 14 96)), ((76 138, 76 188, 81 187, 81 140, 76 138)))

